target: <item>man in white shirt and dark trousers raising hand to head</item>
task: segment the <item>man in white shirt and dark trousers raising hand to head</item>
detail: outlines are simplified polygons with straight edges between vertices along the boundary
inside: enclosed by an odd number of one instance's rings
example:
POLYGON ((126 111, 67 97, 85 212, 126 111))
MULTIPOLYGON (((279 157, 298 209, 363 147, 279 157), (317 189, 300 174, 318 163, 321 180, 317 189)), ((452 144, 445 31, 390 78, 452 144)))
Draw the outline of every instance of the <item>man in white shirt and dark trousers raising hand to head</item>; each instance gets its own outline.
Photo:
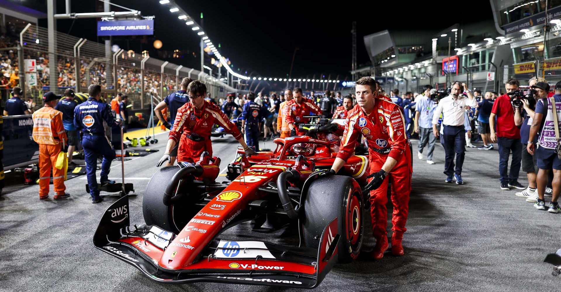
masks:
POLYGON ((433 114, 433 134, 438 137, 440 133, 436 129, 438 125, 438 118, 440 114, 443 115, 443 141, 444 151, 446 152, 446 160, 444 162, 444 174, 447 175, 445 182, 452 183, 452 176, 456 179, 456 184, 463 184, 462 180, 462 165, 466 152, 466 128, 465 122, 465 108, 466 105, 475 106, 477 100, 473 98, 470 90, 465 83, 454 81, 450 94, 441 99, 436 106, 436 111, 433 114), (467 93, 466 96, 462 92, 467 93), (454 154, 456 155, 456 169, 454 170, 454 154))

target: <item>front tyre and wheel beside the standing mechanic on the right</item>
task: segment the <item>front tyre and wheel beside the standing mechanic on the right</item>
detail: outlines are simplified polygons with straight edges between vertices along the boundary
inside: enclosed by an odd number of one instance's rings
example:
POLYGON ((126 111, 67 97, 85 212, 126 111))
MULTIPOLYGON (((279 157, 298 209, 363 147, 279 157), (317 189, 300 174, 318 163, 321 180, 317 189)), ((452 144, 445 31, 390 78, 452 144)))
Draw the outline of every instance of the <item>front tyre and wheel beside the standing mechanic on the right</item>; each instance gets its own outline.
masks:
POLYGON ((318 249, 325 226, 338 217, 338 262, 356 259, 364 237, 364 208, 358 183, 341 175, 322 177, 310 184, 305 196, 301 225, 306 247, 318 249))

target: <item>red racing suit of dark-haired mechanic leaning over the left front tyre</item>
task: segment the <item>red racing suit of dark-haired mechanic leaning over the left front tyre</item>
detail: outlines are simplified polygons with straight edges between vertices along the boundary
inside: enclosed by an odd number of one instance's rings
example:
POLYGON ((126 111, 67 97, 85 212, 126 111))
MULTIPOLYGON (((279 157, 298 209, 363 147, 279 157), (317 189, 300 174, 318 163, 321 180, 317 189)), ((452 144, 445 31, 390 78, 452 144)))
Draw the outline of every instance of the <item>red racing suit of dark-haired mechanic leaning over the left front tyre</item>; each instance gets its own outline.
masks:
POLYGON ((195 163, 204 151, 208 151, 212 156, 210 132, 213 124, 224 127, 236 140, 242 137, 240 130, 230 122, 226 114, 208 101, 204 101, 200 111, 195 109, 191 102, 177 110, 173 131, 169 131, 169 139, 179 143, 177 161, 195 163))

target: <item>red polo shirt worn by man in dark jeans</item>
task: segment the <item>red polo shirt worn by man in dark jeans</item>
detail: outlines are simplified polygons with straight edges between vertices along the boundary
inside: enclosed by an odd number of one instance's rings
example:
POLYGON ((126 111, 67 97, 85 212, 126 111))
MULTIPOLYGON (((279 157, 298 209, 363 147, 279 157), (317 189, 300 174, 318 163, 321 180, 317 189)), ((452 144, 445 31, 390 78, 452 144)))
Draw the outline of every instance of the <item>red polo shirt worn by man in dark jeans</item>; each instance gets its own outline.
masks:
POLYGON ((491 113, 496 115, 496 136, 519 139, 520 129, 514 124, 514 109, 512 108, 510 96, 503 94, 493 104, 491 113))

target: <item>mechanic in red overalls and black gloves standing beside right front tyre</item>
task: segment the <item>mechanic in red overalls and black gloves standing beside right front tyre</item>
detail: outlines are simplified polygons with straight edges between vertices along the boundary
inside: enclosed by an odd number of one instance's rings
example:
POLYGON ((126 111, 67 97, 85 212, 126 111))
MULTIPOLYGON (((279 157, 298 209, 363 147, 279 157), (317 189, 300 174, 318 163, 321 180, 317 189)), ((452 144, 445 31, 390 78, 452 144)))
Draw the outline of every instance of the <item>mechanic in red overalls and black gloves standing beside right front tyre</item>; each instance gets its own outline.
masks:
POLYGON ((397 104, 376 98, 378 92, 375 80, 362 77, 356 82, 357 105, 349 113, 346 127, 330 174, 342 168, 346 160, 355 152, 358 133, 368 140, 369 183, 364 191, 370 192, 370 212, 376 246, 372 252, 374 259, 380 259, 388 249, 386 226, 388 202, 388 180, 392 180, 392 253, 403 256, 402 239, 407 230, 409 194, 411 192, 411 151, 403 126, 403 114, 397 104))

